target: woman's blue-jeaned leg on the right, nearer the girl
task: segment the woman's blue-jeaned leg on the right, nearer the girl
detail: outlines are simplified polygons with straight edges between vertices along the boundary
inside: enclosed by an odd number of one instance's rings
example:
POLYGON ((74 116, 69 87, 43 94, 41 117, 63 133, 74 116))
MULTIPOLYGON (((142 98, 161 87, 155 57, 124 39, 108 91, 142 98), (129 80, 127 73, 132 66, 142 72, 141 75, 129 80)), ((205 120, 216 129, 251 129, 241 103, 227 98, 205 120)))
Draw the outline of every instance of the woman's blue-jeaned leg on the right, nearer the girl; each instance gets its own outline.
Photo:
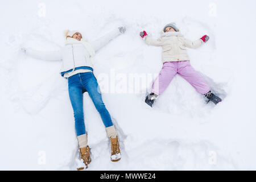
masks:
POLYGON ((106 109, 106 106, 102 101, 100 87, 98 86, 98 82, 92 72, 82 73, 82 84, 87 90, 90 98, 92 98, 93 104, 100 113, 105 127, 113 126, 109 111, 106 109))

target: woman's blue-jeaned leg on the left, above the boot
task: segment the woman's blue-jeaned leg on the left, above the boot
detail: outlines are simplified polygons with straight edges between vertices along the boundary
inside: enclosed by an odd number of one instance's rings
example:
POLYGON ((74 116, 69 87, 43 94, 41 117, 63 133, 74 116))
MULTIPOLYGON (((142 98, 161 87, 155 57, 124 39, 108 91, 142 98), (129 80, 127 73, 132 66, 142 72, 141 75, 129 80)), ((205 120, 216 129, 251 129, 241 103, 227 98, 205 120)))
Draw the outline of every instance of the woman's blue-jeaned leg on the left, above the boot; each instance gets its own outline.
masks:
POLYGON ((75 127, 77 136, 85 134, 84 110, 82 106, 83 88, 78 75, 73 75, 68 78, 68 93, 73 107, 75 117, 75 127))

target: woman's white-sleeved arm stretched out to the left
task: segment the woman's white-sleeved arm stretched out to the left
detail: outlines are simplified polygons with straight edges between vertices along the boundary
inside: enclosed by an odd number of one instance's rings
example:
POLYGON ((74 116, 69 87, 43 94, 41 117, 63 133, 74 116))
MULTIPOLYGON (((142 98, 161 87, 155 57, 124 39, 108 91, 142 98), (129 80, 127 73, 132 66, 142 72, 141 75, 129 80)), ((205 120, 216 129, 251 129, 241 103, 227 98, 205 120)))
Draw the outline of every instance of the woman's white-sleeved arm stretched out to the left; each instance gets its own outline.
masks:
POLYGON ((59 51, 38 51, 32 48, 22 47, 22 51, 26 55, 34 57, 36 59, 55 61, 61 60, 61 50, 59 51))

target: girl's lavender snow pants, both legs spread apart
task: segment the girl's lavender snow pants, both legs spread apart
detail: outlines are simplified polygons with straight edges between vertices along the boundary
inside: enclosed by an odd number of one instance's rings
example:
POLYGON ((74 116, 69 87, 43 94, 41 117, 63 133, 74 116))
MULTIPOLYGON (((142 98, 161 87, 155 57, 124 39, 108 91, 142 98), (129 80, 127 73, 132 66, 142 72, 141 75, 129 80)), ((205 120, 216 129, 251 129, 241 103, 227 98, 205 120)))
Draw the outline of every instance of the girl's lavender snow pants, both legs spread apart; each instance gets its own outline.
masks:
POLYGON ((176 73, 187 80, 197 92, 201 94, 209 92, 209 85, 204 78, 191 67, 189 61, 165 62, 162 70, 152 85, 152 92, 158 95, 162 94, 176 73))

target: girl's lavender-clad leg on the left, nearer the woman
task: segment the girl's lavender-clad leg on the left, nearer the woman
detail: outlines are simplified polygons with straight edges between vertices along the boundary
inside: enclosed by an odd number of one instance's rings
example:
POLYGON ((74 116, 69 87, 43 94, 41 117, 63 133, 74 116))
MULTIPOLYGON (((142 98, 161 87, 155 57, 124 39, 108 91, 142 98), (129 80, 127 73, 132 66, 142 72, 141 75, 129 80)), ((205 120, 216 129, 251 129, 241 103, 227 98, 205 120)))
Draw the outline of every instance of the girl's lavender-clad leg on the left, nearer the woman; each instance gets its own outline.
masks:
POLYGON ((155 79, 152 85, 152 93, 160 95, 166 90, 172 78, 177 73, 177 63, 176 62, 166 62, 163 64, 158 77, 155 79))

